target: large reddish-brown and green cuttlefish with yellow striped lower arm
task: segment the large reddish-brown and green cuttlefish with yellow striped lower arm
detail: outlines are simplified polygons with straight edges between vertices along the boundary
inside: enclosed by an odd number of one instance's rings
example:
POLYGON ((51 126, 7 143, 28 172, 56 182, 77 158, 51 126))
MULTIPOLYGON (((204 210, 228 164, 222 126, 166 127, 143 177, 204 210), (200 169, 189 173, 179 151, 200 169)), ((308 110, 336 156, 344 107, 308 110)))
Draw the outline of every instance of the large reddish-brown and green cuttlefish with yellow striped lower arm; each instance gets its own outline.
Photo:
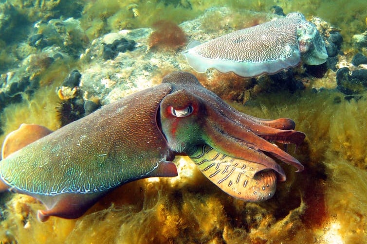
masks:
POLYGON ((38 210, 41 221, 49 216, 72 219, 124 183, 176 176, 172 160, 175 154, 186 154, 224 192, 262 201, 274 195, 276 180, 286 179, 269 155, 303 170, 297 159, 269 142, 299 145, 305 135, 294 126, 290 119, 262 120, 240 113, 192 74, 174 72, 161 85, 55 132, 20 126, 4 140, 0 191, 40 200, 46 206, 38 210))

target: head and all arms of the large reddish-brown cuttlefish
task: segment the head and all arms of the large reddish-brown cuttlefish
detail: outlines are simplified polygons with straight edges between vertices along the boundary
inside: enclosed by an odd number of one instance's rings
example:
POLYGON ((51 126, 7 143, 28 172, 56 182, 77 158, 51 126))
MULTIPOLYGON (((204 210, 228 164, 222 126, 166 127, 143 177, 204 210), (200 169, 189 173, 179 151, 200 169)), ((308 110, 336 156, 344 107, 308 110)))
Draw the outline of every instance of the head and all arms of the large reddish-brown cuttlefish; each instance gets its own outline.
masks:
POLYGON ((173 85, 160 106, 162 132, 169 147, 191 157, 223 191, 242 200, 265 200, 274 194, 275 179, 286 179, 274 157, 297 171, 304 169, 296 158, 270 142, 300 144, 305 135, 293 130, 292 120, 263 120, 241 113, 202 87, 190 73, 175 72, 163 82, 173 85), (215 154, 208 153, 213 150, 215 154), (256 194, 256 185, 271 192, 256 194), (244 193, 250 188, 256 196, 249 199, 244 193))

